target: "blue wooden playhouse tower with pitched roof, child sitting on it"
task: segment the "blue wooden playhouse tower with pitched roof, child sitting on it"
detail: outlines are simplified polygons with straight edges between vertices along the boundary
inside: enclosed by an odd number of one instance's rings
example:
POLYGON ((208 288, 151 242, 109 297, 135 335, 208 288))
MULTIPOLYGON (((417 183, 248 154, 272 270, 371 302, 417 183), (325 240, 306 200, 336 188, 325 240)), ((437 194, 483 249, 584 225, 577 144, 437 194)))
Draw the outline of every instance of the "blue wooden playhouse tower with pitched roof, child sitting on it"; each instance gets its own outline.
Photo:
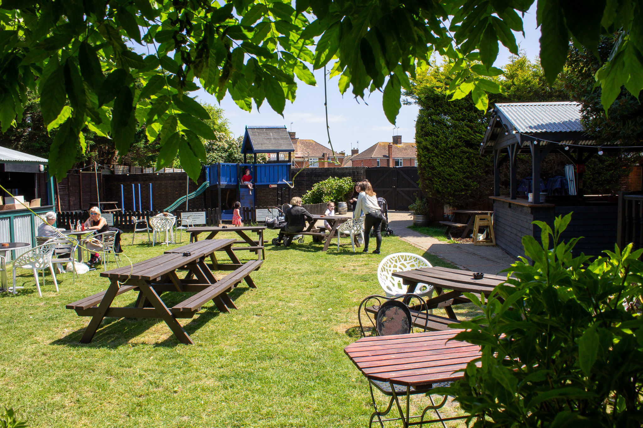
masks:
MULTIPOLYGON (((277 194, 287 190, 290 200, 293 184, 291 178, 291 160, 294 151, 293 141, 285 126, 246 126, 241 153, 244 155, 242 164, 217 163, 206 166, 206 181, 210 187, 217 187, 219 207, 222 208, 222 189, 236 189, 236 200, 242 207, 256 207, 257 193, 262 189, 275 188, 277 194), (258 153, 269 153, 271 160, 267 164, 257 164, 258 153), (287 162, 285 161, 287 153, 287 162), (248 162, 248 155, 252 155, 248 162), (274 159, 274 160, 273 160, 274 159), (250 194, 248 187, 241 185, 241 176, 245 169, 250 169, 255 191, 250 194)), ((279 197, 276 198, 276 203, 279 197)), ((276 204, 275 203, 275 204, 276 204)), ((232 210, 221 210, 221 218, 232 219, 232 210)))

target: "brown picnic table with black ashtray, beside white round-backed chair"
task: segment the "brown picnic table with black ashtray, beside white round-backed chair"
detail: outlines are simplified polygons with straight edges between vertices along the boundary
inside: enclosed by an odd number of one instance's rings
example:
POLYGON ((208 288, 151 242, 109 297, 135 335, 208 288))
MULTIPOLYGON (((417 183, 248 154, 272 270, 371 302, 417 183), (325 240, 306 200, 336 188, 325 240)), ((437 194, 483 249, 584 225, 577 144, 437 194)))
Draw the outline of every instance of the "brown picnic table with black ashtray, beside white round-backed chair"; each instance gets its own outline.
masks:
MULTIPOLYGON (((433 266, 433 268, 421 268, 410 271, 394 272, 394 277, 402 278, 403 284, 408 285, 406 293, 410 294, 415 292, 417 284, 428 284, 435 288, 437 296, 426 300, 428 309, 436 309, 443 307, 449 316, 449 321, 458 322, 452 305, 470 302, 463 293, 474 293, 477 295, 484 295, 485 297, 493 293, 493 289, 498 284, 505 282, 507 277, 500 275, 484 275, 482 279, 474 279, 473 272, 440 268, 433 266), (444 289, 453 291, 444 292, 444 289)), ((448 329, 448 322, 445 323, 444 329, 448 329)))

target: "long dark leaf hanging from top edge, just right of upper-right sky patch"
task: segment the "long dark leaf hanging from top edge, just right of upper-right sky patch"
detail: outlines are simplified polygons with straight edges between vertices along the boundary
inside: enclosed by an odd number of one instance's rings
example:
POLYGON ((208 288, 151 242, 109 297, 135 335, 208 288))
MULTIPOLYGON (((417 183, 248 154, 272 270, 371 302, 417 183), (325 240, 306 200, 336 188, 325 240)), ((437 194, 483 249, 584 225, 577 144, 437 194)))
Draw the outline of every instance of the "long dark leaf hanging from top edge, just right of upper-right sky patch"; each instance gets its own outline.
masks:
POLYGON ((538 2, 538 19, 542 22, 540 37, 540 62, 545 77, 554 84, 558 74, 563 71, 569 50, 569 33, 559 0, 543 1, 542 10, 538 2))

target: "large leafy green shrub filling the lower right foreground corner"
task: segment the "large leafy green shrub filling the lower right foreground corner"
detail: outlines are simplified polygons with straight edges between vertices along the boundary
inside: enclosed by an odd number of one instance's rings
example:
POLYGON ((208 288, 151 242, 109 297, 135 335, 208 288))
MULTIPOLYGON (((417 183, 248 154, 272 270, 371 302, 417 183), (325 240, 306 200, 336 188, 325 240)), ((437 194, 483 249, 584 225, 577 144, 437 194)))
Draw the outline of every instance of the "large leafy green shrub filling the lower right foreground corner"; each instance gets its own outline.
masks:
POLYGON ((577 238, 559 243, 570 219, 556 218, 554 232, 534 221, 543 244, 522 239, 534 264, 521 257, 507 269, 515 278, 499 296, 467 294, 484 314, 458 325, 456 339, 481 345, 482 358, 442 390, 474 427, 640 427, 643 250, 572 258, 577 238))

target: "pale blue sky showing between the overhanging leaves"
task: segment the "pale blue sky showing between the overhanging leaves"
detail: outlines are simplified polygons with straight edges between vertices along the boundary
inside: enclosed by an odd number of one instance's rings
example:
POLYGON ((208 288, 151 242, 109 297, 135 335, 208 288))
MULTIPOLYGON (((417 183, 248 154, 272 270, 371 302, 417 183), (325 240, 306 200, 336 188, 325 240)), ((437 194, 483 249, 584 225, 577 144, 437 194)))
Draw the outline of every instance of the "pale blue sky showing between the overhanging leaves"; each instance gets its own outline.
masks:
MULTIPOLYGON (((540 30, 536 28, 536 3, 525 14, 524 28, 525 37, 516 33, 516 40, 520 48, 533 60, 538 57, 540 49, 540 30)), ((500 54, 494 65, 502 67, 510 55, 501 44, 500 54)), ((242 135, 246 125, 285 125, 288 130, 296 132, 299 138, 311 139, 328 146, 323 105, 323 70, 315 71, 314 74, 317 86, 311 87, 298 82, 297 98, 292 104, 286 102, 284 117, 274 112, 265 101, 260 111, 253 105, 252 112, 248 113, 237 107, 229 95, 226 95, 219 105, 217 99, 204 90, 193 94, 199 96, 199 101, 223 108, 226 118, 230 121, 230 130, 235 136, 242 135)), ((417 106, 402 106, 397 117, 399 128, 394 130, 394 125, 390 124, 384 115, 381 92, 370 94, 365 98, 366 103, 361 99, 356 101, 350 94, 350 88, 345 96, 341 96, 338 80, 339 77, 336 77, 327 82, 329 126, 335 151, 350 153, 351 148, 357 147, 359 151, 363 151, 378 141, 392 141, 393 135, 402 135, 403 142, 415 141, 415 119, 419 110, 417 106)))

